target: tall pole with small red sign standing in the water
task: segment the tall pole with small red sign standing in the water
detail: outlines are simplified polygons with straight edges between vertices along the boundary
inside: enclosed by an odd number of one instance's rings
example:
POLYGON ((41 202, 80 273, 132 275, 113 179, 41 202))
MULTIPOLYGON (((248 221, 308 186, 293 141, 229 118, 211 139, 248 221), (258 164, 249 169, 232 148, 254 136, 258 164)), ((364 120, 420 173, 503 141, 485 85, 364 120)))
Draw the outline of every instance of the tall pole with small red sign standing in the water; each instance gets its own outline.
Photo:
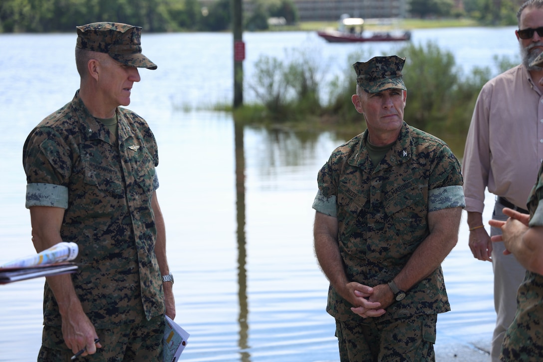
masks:
POLYGON ((232 0, 232 28, 234 47, 234 104, 233 108, 243 105, 243 60, 245 43, 243 42, 243 3, 232 0))

